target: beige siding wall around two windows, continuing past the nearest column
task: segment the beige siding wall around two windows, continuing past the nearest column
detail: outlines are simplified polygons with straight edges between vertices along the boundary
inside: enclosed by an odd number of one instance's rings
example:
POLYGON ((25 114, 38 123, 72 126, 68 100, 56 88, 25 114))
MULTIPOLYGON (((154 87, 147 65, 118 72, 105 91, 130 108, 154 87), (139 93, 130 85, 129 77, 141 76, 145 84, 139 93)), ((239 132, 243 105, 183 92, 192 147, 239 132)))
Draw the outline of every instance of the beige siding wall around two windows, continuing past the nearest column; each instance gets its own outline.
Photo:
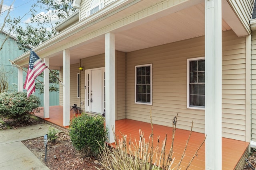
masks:
MULTIPOLYGON (((222 136, 245 140, 245 40, 233 31, 223 32, 222 136)), ((204 57, 204 37, 187 39, 127 53, 126 117, 204 133, 204 110, 187 109, 187 66, 189 58, 204 57), (152 63, 153 104, 135 104, 134 67, 152 63)))

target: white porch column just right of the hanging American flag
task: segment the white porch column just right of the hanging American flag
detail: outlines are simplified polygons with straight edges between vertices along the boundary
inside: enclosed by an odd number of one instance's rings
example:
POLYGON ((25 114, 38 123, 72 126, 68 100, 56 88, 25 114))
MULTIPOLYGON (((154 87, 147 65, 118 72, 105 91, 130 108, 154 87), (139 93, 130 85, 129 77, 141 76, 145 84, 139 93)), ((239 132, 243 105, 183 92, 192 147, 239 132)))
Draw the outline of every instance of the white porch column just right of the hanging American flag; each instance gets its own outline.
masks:
MULTIPOLYGON (((49 66, 49 58, 44 58, 44 63, 49 66)), ((50 117, 50 95, 49 95, 49 69, 44 69, 44 118, 50 117)))

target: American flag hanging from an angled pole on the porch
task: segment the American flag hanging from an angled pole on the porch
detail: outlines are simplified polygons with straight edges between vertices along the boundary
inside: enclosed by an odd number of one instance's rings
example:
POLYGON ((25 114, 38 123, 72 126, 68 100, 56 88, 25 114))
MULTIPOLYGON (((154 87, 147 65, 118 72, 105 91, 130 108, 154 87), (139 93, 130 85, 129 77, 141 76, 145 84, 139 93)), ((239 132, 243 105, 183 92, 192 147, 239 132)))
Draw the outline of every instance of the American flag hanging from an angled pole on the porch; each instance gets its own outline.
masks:
POLYGON ((23 86, 24 89, 27 90, 27 98, 29 98, 30 94, 36 92, 35 79, 41 74, 48 66, 36 55, 34 51, 30 51, 29 64, 28 64, 28 72, 25 80, 25 84, 23 86))

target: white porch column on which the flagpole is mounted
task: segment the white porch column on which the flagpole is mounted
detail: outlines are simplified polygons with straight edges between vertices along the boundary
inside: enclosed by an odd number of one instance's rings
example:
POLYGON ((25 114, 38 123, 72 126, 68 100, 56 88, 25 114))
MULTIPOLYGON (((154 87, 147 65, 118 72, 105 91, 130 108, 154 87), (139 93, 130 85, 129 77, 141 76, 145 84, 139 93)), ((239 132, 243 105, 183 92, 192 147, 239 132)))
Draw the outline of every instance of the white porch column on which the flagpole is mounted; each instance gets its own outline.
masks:
POLYGON ((63 126, 70 121, 70 52, 63 50, 63 126))

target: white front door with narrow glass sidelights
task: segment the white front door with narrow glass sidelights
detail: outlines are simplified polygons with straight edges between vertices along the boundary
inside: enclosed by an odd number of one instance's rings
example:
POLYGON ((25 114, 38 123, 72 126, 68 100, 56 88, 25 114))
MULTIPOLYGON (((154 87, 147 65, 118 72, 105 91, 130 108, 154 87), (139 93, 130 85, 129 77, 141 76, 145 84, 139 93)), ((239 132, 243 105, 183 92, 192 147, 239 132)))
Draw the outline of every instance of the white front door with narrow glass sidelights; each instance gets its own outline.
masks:
POLYGON ((104 68, 86 70, 86 111, 103 113, 103 74, 104 68))

